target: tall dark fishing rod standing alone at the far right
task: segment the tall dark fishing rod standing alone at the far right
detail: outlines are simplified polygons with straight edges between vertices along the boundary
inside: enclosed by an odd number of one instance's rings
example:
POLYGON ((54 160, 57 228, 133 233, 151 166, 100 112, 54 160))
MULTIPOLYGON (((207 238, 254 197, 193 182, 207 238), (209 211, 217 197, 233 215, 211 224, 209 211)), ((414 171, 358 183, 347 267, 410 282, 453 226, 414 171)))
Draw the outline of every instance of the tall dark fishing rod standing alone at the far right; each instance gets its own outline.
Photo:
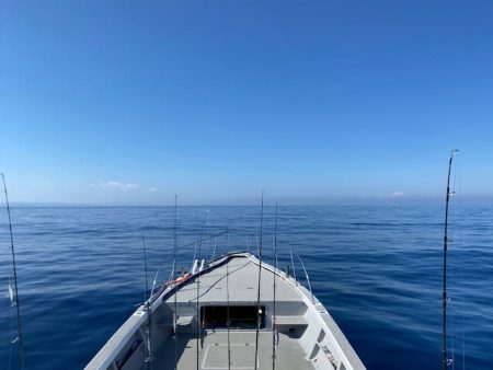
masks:
MULTIPOLYGON (((447 175, 447 194, 445 196, 445 226, 444 226, 444 291, 442 296, 442 369, 446 370, 447 367, 452 362, 447 356, 447 247, 448 247, 448 204, 450 200, 450 171, 455 154, 458 152, 454 149, 450 153, 450 159, 448 160, 448 175, 447 175)), ((451 241, 450 241, 451 242, 451 241)))

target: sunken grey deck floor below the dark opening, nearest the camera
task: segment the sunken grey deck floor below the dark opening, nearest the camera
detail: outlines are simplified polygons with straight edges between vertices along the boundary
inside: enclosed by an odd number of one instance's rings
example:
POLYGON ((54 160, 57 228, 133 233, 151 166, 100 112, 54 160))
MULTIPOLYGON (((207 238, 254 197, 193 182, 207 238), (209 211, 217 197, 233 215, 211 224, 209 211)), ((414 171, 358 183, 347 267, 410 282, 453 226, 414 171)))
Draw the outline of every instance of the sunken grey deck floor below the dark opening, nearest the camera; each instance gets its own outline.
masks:
MULTIPOLYGON (((259 335, 257 368, 272 367, 272 332, 259 335)), ((204 370, 249 370, 255 369, 255 332, 230 331, 230 360, 228 368, 227 331, 207 331, 202 346, 198 342, 198 369, 204 370)), ((154 369, 174 369, 174 350, 176 348, 177 369, 197 369, 197 339, 191 335, 179 335, 176 347, 174 338, 169 337, 154 352, 154 369)), ((279 333, 276 355, 278 369, 313 369, 306 359, 297 339, 279 333)))

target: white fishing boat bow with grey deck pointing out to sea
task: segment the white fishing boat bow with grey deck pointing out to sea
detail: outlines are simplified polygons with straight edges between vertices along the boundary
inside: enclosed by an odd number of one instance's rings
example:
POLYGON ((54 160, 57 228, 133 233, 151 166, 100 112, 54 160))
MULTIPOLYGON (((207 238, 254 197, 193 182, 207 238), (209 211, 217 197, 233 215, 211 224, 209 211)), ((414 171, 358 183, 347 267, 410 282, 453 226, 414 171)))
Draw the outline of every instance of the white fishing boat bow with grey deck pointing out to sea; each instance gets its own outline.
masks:
POLYGON ((262 261, 262 248, 195 258, 85 369, 365 369, 308 274, 305 287, 289 267, 262 261))

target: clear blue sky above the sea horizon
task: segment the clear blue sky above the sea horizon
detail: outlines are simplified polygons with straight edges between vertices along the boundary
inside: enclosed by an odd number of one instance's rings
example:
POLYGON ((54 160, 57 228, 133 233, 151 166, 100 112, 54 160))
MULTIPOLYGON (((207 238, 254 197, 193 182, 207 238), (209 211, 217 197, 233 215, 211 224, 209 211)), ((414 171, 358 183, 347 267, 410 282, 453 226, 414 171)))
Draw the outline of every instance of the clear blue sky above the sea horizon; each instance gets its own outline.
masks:
MULTIPOLYGON (((12 200, 493 193, 491 1, 0 0, 12 200)), ((239 201, 239 200, 238 200, 239 201)))

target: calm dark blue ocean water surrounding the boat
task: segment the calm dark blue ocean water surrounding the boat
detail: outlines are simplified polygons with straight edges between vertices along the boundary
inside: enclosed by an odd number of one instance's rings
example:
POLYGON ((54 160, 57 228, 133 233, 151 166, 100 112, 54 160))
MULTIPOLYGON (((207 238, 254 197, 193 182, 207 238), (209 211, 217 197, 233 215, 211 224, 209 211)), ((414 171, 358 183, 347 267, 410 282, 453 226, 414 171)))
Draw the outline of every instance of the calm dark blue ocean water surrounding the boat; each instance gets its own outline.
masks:
MULTIPOLYGON (((179 245, 200 234, 206 207, 179 208, 179 245)), ((260 207, 208 207, 205 232, 260 230, 260 207)), ((442 340, 439 206, 279 207, 278 254, 301 256, 313 293, 369 369, 437 369, 442 340)), ((0 213, 0 363, 18 369, 7 215, 0 213), (2 290, 0 290, 2 291, 2 290)), ((81 369, 171 271, 173 208, 14 208, 14 243, 27 369, 81 369)), ((272 261, 274 208, 264 209, 263 245, 272 261)), ((493 369, 493 212, 452 208, 449 350, 456 369, 493 369)), ((219 239, 216 254, 244 250, 245 234, 219 239)), ((255 240, 248 246, 256 250, 255 240)), ((210 256, 213 241, 202 245, 210 256)), ((180 247, 190 268, 194 245, 180 247)), ((297 267, 298 277, 302 277, 297 267)), ((302 280, 302 279, 301 279, 302 280)))

